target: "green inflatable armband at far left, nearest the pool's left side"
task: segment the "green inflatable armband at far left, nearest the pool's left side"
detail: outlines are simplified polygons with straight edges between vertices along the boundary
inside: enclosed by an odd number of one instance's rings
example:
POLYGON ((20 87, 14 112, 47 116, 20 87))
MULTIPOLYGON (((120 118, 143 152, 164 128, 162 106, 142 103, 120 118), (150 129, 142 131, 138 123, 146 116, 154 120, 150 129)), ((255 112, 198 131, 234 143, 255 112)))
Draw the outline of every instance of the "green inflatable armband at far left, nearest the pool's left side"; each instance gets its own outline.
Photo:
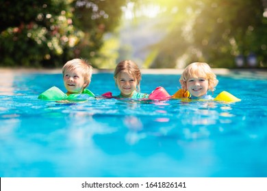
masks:
POLYGON ((51 87, 47 89, 47 91, 44 91, 38 96, 38 99, 40 100, 51 100, 51 101, 58 101, 66 99, 67 95, 63 91, 61 91, 58 87, 51 87))

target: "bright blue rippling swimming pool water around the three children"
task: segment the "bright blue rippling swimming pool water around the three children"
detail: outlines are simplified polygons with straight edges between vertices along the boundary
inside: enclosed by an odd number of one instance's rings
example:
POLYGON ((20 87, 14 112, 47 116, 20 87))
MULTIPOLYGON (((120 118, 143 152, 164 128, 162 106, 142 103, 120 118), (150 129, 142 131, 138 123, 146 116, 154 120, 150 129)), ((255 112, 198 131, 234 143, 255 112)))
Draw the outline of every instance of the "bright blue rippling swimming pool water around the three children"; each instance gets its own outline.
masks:
MULTIPOLYGON (((5 76, 0 177, 267 177, 267 80, 218 76, 214 95, 242 102, 38 100, 61 74, 5 76)), ((144 74, 141 90, 173 94, 179 75, 144 74)), ((112 74, 89 89, 118 93, 112 74)), ((215 96, 214 96, 215 97, 215 96)))

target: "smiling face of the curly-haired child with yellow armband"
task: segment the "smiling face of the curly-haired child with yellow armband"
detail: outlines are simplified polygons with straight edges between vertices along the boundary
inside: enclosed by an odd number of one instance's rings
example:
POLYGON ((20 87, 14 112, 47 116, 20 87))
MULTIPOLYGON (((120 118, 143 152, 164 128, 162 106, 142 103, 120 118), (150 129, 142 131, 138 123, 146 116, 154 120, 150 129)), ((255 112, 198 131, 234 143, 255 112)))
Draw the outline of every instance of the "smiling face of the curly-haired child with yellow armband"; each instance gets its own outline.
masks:
POLYGON ((209 81, 204 77, 193 77, 190 76, 186 81, 186 87, 191 95, 194 97, 200 97, 207 93, 209 81))

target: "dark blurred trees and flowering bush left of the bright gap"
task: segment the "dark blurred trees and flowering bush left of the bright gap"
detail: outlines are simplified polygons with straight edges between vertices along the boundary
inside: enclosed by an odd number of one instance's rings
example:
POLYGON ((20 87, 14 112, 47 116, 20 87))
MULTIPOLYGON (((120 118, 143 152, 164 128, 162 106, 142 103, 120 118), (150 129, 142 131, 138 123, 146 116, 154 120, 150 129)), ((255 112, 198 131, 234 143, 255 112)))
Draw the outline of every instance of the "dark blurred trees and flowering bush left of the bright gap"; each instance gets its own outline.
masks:
POLYGON ((125 3, 1 0, 0 65, 52 68, 74 57, 99 59, 103 35, 118 25, 125 3))

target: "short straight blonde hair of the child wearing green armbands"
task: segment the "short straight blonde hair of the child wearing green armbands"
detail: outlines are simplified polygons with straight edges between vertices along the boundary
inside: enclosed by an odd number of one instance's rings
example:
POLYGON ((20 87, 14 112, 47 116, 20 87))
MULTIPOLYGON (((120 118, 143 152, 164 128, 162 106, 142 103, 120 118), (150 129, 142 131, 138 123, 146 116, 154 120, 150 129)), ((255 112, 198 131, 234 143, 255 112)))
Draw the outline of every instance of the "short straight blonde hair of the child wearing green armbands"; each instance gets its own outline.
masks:
MULTIPOLYGON (((81 72, 81 76, 84 76, 84 81, 87 83, 86 87, 88 87, 92 78, 92 65, 90 65, 86 59, 72 59, 67 61, 62 68, 63 76, 67 70, 77 70, 78 72, 81 72)), ((84 87, 84 89, 86 87, 84 87)))

